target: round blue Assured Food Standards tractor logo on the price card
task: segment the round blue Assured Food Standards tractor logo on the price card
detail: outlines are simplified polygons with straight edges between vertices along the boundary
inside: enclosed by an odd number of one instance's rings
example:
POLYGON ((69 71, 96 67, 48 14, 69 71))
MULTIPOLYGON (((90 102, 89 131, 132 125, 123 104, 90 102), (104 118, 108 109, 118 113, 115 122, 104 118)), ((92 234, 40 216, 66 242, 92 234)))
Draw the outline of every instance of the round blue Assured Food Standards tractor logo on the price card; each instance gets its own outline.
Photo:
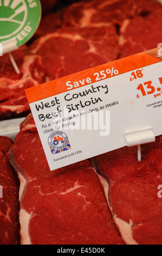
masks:
POLYGON ((71 149, 69 139, 66 133, 62 131, 55 131, 48 137, 48 145, 50 147, 51 154, 61 153, 68 149, 71 149))

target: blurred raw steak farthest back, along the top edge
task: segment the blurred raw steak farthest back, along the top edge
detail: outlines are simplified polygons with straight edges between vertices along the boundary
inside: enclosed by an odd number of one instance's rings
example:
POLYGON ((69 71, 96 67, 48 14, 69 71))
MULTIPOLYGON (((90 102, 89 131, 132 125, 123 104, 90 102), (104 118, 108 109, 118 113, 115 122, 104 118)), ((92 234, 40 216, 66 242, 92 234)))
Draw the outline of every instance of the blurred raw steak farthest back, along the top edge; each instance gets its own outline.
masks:
POLYGON ((92 23, 121 21, 135 15, 146 15, 161 9, 161 4, 152 0, 94 0, 75 3, 64 9, 65 26, 87 26, 92 23))

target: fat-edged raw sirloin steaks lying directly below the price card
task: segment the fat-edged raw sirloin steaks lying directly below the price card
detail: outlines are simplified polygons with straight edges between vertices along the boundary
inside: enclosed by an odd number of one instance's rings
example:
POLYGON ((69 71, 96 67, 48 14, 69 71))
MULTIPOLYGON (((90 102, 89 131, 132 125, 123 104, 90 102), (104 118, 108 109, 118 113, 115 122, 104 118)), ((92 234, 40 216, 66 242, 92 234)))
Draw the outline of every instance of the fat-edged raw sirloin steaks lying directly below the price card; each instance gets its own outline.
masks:
POLYGON ((160 245, 161 139, 142 145, 140 162, 125 147, 50 172, 28 115, 9 153, 21 182, 21 243, 160 245))

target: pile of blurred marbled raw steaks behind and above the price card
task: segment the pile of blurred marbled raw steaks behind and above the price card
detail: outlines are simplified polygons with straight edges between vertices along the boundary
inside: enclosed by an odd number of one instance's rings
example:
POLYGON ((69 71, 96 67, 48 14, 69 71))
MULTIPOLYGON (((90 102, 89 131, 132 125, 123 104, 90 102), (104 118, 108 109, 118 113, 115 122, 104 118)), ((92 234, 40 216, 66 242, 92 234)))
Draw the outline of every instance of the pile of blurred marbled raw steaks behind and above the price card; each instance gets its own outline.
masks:
POLYGON ((20 74, 0 58, 0 120, 30 112, 26 88, 157 47, 161 14, 153 0, 80 1, 46 13, 28 46, 13 52, 20 74))

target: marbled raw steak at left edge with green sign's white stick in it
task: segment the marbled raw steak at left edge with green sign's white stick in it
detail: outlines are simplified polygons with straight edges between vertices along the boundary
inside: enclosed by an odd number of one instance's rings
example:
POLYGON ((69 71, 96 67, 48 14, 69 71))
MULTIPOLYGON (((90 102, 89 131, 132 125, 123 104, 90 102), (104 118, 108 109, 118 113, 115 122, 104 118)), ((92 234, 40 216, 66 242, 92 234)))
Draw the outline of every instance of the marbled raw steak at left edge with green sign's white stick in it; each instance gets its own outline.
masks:
POLYGON ((20 117, 29 113, 24 89, 43 82, 44 71, 40 56, 33 55, 23 46, 12 53, 20 69, 14 70, 8 54, 0 58, 0 120, 20 117))

